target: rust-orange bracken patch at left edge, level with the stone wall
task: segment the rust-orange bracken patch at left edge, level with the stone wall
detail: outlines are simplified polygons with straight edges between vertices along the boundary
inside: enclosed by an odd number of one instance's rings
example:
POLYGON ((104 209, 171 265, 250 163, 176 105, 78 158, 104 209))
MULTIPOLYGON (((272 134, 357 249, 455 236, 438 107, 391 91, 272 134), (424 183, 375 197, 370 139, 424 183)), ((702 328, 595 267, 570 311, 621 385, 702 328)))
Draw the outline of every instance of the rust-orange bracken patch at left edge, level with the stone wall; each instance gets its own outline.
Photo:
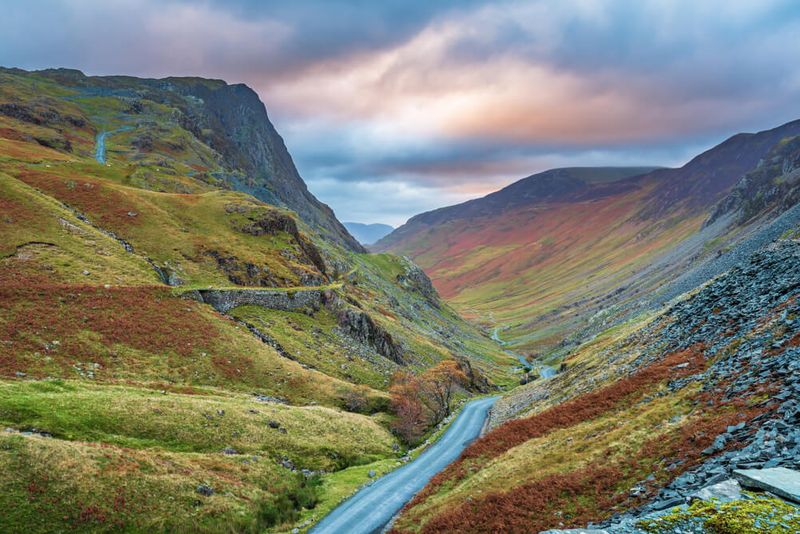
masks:
MULTIPOLYGON (((115 345, 188 356, 218 336, 198 306, 159 287, 4 284, 0 308, 9 320, 0 321, 0 339, 9 353, 52 353, 65 364, 104 362, 115 345)), ((0 366, 0 375, 15 370, 0 366)))

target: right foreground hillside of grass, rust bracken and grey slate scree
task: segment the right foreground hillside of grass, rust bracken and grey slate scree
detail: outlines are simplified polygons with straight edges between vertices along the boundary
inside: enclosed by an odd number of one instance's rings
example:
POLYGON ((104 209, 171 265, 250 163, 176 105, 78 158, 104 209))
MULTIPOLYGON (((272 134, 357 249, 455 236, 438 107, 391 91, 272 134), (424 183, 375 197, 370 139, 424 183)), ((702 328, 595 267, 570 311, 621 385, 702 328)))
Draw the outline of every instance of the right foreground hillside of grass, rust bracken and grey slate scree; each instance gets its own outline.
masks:
MULTIPOLYGON (((681 503, 737 467, 796 469, 798 253, 795 241, 761 251, 664 313, 582 345, 557 377, 498 401, 493 429, 415 497, 395 532, 538 532, 625 517, 637 525, 632 508, 669 508, 659 502, 681 503)), ((762 531, 785 509, 762 504, 736 518, 742 530, 713 531, 762 531)), ((722 510, 715 524, 737 524, 726 519, 735 513, 722 510)), ((676 514, 679 528, 703 512, 676 514)), ((677 531, 666 524, 638 525, 677 531)), ((770 531, 798 525, 789 514, 770 531)))

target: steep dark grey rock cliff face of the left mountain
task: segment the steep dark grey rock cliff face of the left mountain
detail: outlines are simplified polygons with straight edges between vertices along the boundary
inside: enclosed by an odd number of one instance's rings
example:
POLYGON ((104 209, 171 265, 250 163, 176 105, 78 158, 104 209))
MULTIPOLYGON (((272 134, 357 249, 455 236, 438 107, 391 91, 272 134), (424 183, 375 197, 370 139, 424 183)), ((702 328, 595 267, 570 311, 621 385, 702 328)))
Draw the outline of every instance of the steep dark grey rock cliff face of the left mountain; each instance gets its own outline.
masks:
MULTIPOLYGON (((90 77, 69 69, 37 74, 65 87, 78 88, 82 97, 113 96, 127 101, 129 115, 141 113, 146 101, 172 108, 171 120, 216 152, 218 163, 225 170, 214 171, 215 180, 259 200, 287 207, 328 239, 350 250, 364 251, 336 219, 333 210, 308 190, 283 139, 270 122, 266 107, 248 86, 204 78, 90 77)), ((32 120, 41 118, 36 109, 0 109, 0 114, 4 112, 22 113, 32 120)), ((75 120, 71 126, 78 126, 75 120)), ((140 133, 136 144, 137 148, 149 150, 158 141, 152 133, 140 133)), ((173 148, 181 148, 180 141, 173 143, 173 148)))

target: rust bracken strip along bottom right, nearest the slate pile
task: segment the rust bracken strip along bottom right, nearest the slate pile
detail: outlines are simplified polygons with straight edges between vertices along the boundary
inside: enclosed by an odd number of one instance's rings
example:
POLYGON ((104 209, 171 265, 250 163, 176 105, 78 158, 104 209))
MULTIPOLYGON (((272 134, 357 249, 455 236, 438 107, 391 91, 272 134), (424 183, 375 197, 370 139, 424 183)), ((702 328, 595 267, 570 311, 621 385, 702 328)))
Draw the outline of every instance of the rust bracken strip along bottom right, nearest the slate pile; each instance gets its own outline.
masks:
MULTIPOLYGON (((489 494, 435 516, 422 532, 527 533, 607 519, 614 512, 652 498, 660 484, 700 463, 701 451, 728 425, 752 419, 765 410, 716 403, 699 419, 646 442, 632 457, 553 474, 513 491, 489 494), (630 488, 650 474, 656 477, 646 484, 648 491, 631 496, 630 488)), ((612 453, 608 451, 609 456, 612 453)))

